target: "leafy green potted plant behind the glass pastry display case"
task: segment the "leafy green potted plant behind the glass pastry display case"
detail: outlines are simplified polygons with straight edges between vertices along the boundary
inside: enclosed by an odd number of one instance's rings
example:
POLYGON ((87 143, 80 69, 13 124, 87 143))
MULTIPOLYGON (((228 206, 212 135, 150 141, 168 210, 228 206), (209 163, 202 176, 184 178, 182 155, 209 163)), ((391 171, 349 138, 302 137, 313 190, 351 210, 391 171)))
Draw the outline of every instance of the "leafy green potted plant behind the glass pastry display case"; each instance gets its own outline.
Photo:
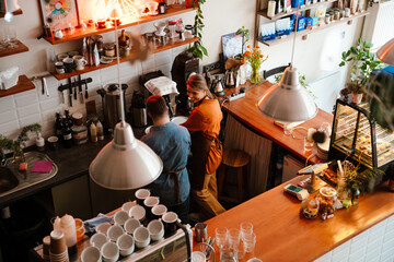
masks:
POLYGON ((370 51, 372 46, 369 41, 362 41, 360 37, 356 47, 350 47, 341 53, 339 67, 347 63, 351 66, 350 83, 347 84, 347 88, 352 93, 356 104, 361 103, 371 72, 382 66, 376 56, 370 51))

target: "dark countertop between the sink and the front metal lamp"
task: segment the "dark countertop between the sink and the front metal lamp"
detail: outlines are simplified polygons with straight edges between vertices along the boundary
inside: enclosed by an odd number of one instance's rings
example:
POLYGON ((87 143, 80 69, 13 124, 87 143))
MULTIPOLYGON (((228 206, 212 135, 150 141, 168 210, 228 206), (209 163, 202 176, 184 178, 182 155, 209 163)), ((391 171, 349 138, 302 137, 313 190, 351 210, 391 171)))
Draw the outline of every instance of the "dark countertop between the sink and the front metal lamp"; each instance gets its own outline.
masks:
POLYGON ((46 150, 44 153, 47 154, 58 166, 58 172, 55 177, 1 196, 0 207, 86 174, 94 157, 109 141, 109 139, 105 139, 104 141, 99 141, 97 143, 88 142, 86 144, 73 145, 71 148, 60 147, 57 151, 46 150))

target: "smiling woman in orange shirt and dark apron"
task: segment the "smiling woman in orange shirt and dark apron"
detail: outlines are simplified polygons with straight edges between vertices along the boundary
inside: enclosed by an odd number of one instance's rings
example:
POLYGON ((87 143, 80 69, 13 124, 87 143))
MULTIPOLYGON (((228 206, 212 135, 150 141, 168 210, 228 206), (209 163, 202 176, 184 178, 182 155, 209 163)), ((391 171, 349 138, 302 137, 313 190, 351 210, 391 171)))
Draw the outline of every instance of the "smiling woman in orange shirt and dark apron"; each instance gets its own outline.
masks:
POLYGON ((183 123, 192 135, 192 195, 201 209, 205 219, 223 213, 218 201, 216 170, 221 163, 222 148, 218 140, 223 116, 219 102, 208 90, 201 74, 187 80, 187 95, 195 108, 183 123))

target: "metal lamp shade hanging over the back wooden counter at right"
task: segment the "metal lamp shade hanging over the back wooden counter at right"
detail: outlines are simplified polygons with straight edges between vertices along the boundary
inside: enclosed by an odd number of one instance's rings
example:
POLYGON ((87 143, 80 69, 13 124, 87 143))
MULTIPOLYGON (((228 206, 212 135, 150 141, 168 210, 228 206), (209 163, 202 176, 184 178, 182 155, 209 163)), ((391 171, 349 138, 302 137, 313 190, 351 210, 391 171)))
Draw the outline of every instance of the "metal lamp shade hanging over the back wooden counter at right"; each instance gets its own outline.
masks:
POLYGON ((291 67, 258 99, 257 107, 265 116, 283 122, 305 121, 317 114, 316 104, 300 85, 297 69, 291 67))

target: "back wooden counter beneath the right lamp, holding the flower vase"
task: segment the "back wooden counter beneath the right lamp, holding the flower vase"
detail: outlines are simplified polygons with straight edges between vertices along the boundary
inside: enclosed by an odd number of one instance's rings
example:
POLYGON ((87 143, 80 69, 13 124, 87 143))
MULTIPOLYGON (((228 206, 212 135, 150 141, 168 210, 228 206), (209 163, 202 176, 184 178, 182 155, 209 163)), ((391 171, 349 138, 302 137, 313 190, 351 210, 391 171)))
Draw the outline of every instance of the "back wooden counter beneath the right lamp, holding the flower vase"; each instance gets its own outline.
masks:
MULTIPOLYGON (((310 156, 310 152, 303 150, 303 140, 293 139, 291 135, 285 135, 283 130, 274 124, 274 119, 264 116, 257 108, 257 99, 271 86, 269 82, 265 82, 246 91, 245 97, 233 102, 225 102, 223 109, 252 130, 274 141, 278 145, 291 152, 294 156, 305 160, 310 156)), ((227 94, 235 92, 235 88, 227 88, 227 94)), ((236 90, 237 92, 237 90, 236 90)), ((333 115, 318 109, 317 115, 298 127, 320 128, 323 122, 333 123, 333 115)), ((312 151, 315 152, 316 148, 312 151)), ((322 162, 318 157, 310 158, 311 163, 322 162)))

